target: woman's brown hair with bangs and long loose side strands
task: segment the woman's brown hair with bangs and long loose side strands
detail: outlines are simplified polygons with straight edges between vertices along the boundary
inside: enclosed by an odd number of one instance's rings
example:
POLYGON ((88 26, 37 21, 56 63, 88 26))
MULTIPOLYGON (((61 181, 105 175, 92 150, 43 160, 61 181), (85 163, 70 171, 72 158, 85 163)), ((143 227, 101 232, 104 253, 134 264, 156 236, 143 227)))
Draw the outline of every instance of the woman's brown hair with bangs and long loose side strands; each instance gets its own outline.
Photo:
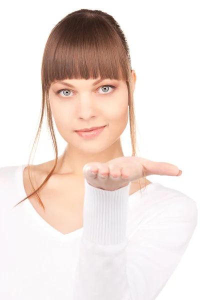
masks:
MULTIPOLYGON (((55 152, 54 166, 41 185, 34 190, 29 172, 30 153, 28 174, 33 192, 20 202, 35 193, 40 205, 44 209, 37 191, 50 178, 57 164, 58 150, 48 98, 50 84, 66 78, 89 79, 91 77, 96 79, 98 76, 102 79, 114 78, 126 81, 132 147, 131 155, 137 156, 131 61, 126 37, 116 20, 106 12, 91 9, 73 11, 62 18, 51 30, 45 44, 41 63, 41 116, 31 153, 35 143, 38 143, 43 116, 46 113, 48 130, 51 134, 55 152)), ((144 178, 146 186, 146 177, 144 178)))

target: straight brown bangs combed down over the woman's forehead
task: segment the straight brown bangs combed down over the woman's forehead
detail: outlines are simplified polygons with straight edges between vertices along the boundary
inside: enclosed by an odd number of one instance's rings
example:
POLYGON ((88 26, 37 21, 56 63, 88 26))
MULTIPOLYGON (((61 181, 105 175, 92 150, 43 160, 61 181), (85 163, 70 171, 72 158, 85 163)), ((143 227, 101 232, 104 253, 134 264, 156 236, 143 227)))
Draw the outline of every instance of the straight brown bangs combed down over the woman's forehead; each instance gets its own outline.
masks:
POLYGON ((64 79, 129 81, 131 66, 114 27, 101 16, 70 15, 50 32, 41 65, 42 88, 64 79))

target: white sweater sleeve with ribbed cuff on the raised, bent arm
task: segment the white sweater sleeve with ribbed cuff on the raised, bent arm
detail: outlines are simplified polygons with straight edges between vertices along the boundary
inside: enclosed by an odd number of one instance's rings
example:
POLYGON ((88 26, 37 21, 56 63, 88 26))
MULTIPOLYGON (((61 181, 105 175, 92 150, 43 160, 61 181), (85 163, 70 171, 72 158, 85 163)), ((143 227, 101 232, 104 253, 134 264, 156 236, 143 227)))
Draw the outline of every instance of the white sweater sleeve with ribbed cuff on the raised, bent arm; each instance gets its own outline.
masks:
POLYGON ((182 194, 126 236, 129 185, 115 191, 85 180, 83 233, 74 300, 153 300, 179 263, 197 223, 196 202, 182 194))

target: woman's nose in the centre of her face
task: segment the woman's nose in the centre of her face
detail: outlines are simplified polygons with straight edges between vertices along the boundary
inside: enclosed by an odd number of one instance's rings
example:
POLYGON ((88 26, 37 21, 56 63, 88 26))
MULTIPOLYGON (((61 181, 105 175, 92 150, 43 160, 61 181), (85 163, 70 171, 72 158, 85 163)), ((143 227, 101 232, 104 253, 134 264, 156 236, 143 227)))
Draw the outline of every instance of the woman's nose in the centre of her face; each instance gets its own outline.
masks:
POLYGON ((93 103, 93 98, 90 95, 79 98, 76 111, 79 118, 88 120, 89 118, 95 116, 95 105, 93 103))

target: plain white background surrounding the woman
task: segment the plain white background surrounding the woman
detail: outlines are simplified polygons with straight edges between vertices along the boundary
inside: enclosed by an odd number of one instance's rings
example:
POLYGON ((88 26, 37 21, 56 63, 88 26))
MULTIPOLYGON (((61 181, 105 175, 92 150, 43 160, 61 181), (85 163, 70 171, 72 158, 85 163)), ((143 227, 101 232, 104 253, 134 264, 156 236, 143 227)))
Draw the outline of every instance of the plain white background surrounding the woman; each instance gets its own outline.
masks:
MULTIPOLYGON (((201 1, 18 0, 4 1, 1 8, 0 166, 28 162, 41 103, 41 58, 53 26, 80 8, 112 14, 127 37, 137 75, 134 101, 138 153, 182 170, 180 177, 147 178, 182 191, 196 201, 198 209, 197 227, 188 248, 156 299, 204 299, 201 1)), ((125 155, 131 154, 128 130, 129 124, 122 135, 125 155)), ((55 132, 61 154, 66 142, 56 127, 55 132)), ((44 124, 33 163, 53 158, 44 124)))

